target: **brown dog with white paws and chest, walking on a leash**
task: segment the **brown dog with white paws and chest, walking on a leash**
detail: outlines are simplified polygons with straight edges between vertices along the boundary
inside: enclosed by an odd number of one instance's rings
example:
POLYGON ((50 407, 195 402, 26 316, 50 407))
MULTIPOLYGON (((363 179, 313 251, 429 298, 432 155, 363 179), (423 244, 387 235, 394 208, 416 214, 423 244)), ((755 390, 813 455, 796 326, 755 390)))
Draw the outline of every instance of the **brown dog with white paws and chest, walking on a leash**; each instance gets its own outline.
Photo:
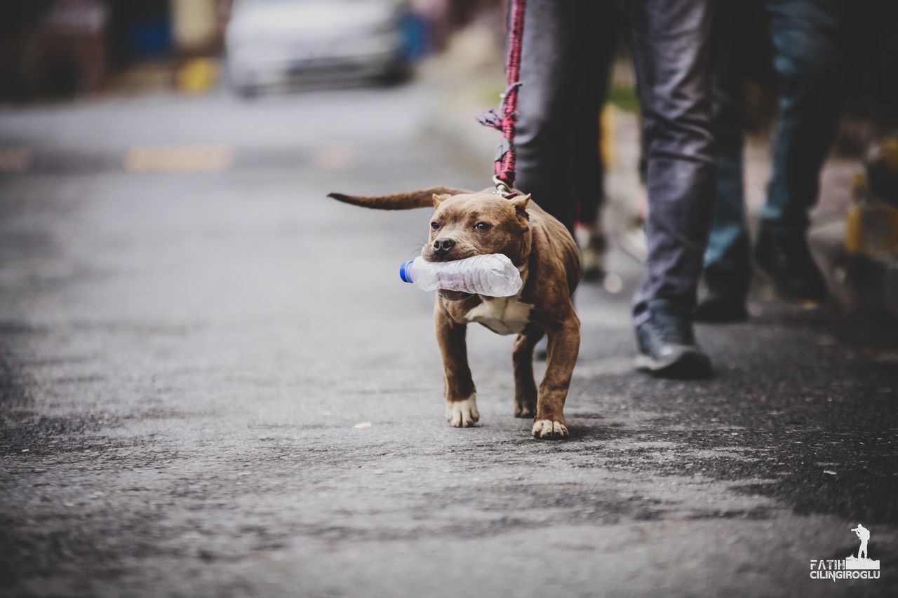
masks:
POLYGON ((514 349, 515 417, 534 418, 537 438, 564 438, 564 401, 580 347, 580 321, 571 295, 580 277, 580 254, 568 229, 542 211, 529 195, 506 199, 491 189, 422 189, 362 198, 331 193, 330 198, 379 209, 436 207, 427 261, 451 261, 484 253, 503 253, 520 270, 521 291, 487 297, 439 291, 436 340, 443 354, 446 420, 470 427, 480 419, 465 347, 465 326, 478 322, 498 334, 517 334, 514 349), (546 375, 539 390, 533 381, 533 347, 549 335, 546 375))

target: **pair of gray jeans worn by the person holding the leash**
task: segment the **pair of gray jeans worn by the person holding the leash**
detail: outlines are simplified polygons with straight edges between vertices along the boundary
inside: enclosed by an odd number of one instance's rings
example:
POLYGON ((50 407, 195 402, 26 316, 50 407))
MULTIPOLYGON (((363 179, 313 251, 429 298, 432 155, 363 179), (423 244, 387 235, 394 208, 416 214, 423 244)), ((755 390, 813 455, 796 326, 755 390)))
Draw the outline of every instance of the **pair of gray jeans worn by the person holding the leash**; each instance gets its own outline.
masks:
MULTIPOLYGON (((695 304, 714 194, 710 133, 711 0, 630 0, 647 154, 648 272, 634 300, 695 304)), ((528 0, 515 187, 572 228, 577 203, 601 196, 597 115, 614 36, 613 0, 528 0), (587 149, 591 148, 591 149, 587 149)))

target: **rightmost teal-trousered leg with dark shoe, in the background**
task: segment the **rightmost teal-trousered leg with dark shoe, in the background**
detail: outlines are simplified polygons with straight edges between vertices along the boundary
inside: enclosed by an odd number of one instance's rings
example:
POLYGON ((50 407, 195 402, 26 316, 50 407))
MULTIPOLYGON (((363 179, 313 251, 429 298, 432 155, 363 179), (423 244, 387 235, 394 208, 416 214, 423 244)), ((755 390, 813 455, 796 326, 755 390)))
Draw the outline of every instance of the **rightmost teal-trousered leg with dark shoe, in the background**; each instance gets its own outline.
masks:
POLYGON ((780 293, 797 298, 826 295, 806 233, 843 98, 841 7, 839 0, 764 3, 780 83, 779 125, 755 258, 780 293))

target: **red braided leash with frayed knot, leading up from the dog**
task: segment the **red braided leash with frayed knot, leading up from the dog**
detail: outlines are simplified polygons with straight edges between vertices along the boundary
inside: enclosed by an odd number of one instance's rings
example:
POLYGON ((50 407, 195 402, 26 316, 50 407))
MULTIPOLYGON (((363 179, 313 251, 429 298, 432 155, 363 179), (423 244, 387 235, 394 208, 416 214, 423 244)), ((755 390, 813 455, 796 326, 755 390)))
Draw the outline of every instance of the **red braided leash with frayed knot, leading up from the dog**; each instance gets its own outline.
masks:
POLYGON ((521 47, 524 42, 524 4, 526 0, 514 0, 511 5, 510 29, 508 31, 508 56, 506 57, 506 91, 502 94, 499 113, 489 110, 478 120, 487 127, 502 131, 496 162, 493 163, 496 192, 506 197, 514 195, 515 188, 515 123, 517 121, 517 91, 521 85, 521 47))

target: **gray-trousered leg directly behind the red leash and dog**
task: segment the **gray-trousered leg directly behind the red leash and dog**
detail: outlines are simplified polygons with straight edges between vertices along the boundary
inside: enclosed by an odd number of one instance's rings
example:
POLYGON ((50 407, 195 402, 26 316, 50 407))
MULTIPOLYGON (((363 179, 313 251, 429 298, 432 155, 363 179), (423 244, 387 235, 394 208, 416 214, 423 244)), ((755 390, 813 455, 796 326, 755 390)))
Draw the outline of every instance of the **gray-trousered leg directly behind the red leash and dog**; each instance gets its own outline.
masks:
MULTIPOLYGON (((585 81, 595 73, 596 5, 555 0, 529 0, 524 15, 521 88, 518 93, 517 174, 515 187, 573 231, 577 216, 577 189, 572 163, 577 146, 577 106, 583 101, 585 81)), ((593 123, 597 136, 597 124, 593 123)), ((596 137, 597 139, 597 137, 596 137)), ((595 144, 597 145, 597 140, 595 144)), ((585 184, 594 181, 595 169, 582 173, 585 184)))

